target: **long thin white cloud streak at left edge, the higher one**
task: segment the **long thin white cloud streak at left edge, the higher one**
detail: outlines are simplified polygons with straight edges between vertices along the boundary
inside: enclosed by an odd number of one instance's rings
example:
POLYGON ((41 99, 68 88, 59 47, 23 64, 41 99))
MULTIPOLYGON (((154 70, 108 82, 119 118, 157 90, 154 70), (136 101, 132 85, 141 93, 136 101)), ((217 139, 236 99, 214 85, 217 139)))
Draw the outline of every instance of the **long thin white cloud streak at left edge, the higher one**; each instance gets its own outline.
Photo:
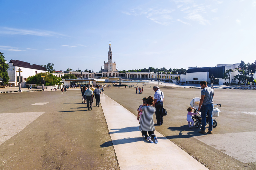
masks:
POLYGON ((44 30, 25 30, 25 29, 16 29, 16 28, 8 28, 8 27, 0 27, 0 34, 8 34, 8 35, 33 35, 33 36, 65 36, 59 33, 55 33, 52 31, 44 31, 44 30))

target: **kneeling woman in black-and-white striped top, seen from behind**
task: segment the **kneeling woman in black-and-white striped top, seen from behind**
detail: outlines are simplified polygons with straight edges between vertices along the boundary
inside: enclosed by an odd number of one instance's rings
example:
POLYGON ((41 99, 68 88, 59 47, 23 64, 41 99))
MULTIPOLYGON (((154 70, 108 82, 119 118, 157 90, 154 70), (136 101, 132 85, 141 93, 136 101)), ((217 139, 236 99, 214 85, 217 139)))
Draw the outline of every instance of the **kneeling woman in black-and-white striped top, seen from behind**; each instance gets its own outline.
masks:
POLYGON ((150 143, 154 143, 151 140, 151 137, 154 139, 155 143, 158 143, 157 137, 154 134, 155 126, 153 115, 156 111, 156 108, 153 107, 154 98, 149 96, 147 98, 148 106, 143 106, 141 108, 142 115, 140 120, 140 127, 139 130, 142 133, 142 137, 147 139, 150 143))

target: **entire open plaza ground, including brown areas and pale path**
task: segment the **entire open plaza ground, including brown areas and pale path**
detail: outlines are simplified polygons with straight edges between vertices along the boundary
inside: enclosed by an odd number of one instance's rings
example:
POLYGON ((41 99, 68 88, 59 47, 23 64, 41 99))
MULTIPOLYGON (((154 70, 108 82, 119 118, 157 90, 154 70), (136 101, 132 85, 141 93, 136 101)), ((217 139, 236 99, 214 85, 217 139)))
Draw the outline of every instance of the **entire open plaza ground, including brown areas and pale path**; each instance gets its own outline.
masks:
POLYGON ((138 83, 144 94, 105 87, 101 107, 91 111, 80 89, 0 94, 0 169, 256 168, 256 91, 215 90, 214 102, 222 105, 218 125, 203 135, 186 121, 200 90, 160 84, 168 115, 156 127, 159 143, 151 144, 135 115, 153 86, 138 83))

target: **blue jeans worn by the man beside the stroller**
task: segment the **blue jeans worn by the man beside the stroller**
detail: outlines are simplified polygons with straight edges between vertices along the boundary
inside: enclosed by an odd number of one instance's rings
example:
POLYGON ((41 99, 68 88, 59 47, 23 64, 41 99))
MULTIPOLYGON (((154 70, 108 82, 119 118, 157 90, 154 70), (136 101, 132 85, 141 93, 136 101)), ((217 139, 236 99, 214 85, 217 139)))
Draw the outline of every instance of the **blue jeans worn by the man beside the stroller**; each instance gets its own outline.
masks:
POLYGON ((207 104, 207 105, 203 105, 201 106, 201 117, 202 117, 202 128, 201 130, 205 130, 205 126, 206 126, 206 115, 208 117, 208 121, 209 121, 209 131, 212 131, 212 110, 213 110, 213 104, 207 104))

